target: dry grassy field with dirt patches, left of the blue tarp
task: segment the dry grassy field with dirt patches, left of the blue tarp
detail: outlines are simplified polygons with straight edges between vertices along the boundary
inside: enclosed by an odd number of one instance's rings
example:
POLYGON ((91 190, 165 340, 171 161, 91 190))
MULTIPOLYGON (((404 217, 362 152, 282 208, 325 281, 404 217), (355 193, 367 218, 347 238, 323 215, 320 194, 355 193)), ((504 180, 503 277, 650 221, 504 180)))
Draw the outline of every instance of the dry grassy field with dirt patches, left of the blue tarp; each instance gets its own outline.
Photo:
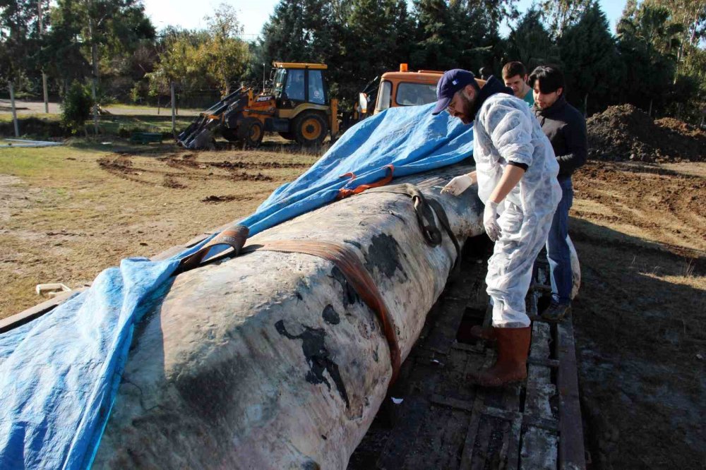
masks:
POLYGON ((197 154, 75 140, 0 149, 0 316, 41 301, 36 284, 80 287, 122 258, 249 215, 317 158, 278 145, 197 154))

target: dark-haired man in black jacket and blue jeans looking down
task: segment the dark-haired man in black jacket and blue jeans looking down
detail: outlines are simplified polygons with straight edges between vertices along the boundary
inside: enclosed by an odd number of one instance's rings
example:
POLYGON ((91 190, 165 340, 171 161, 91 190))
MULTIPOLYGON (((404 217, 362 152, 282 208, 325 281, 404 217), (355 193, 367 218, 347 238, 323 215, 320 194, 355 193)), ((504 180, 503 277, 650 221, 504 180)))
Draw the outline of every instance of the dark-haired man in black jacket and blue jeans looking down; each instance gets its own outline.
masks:
POLYGON ((559 164, 558 181, 561 202, 551 222, 546 241, 551 272, 551 303, 542 318, 558 321, 564 318, 571 304, 573 277, 568 246, 569 208, 573 203, 571 174, 586 162, 586 120, 578 109, 566 102, 564 76, 556 66, 539 66, 530 75, 534 93, 534 116, 549 138, 559 164))

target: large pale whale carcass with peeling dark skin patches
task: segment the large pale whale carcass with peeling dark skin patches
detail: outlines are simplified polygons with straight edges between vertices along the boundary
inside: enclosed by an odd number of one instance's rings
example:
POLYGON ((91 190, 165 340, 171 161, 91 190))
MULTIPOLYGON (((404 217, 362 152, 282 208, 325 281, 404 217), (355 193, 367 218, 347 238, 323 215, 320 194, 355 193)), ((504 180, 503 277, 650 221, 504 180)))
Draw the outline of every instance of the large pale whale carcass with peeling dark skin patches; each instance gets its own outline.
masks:
MULTIPOLYGON (((462 242, 481 234, 475 187, 439 191, 460 164, 400 179, 443 206, 462 242)), ((249 245, 326 241, 356 253, 402 360, 457 251, 425 242, 412 200, 366 191, 263 231, 249 245)), ((380 322, 330 260, 254 251, 184 272, 135 332, 93 468, 345 469, 393 367, 380 322)))

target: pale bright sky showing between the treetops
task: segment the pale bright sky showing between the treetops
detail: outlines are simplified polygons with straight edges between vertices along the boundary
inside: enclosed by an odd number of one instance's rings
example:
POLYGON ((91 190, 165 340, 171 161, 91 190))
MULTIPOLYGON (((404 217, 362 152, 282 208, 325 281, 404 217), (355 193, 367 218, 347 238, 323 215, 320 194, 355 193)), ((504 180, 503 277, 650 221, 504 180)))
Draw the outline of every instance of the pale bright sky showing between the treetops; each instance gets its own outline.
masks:
MULTIPOLYGON (((279 0, 144 0, 145 12, 152 18, 157 30, 167 25, 179 25, 182 28, 205 27, 205 16, 213 13, 215 8, 222 3, 227 3, 238 11, 241 24, 244 26, 245 40, 255 39, 261 32, 263 25, 275 11, 279 0)), ((411 4, 411 1, 409 1, 411 4)), ((527 11, 532 6, 533 0, 520 0, 517 8, 520 13, 527 11)), ((600 0, 599 4, 606 13, 611 25, 611 32, 623 13, 626 0, 600 0)), ((507 35, 508 25, 501 28, 501 34, 507 35)))

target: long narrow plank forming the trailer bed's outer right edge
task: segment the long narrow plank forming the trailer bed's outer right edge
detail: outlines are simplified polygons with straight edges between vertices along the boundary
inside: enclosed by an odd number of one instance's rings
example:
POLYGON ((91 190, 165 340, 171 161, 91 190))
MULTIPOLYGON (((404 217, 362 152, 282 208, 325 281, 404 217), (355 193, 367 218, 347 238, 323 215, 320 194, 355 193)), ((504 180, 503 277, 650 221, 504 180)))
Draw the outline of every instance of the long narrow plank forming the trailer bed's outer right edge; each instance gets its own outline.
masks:
POLYGON ((557 356, 559 368, 559 469, 583 470, 586 468, 581 406, 579 402, 576 350, 573 323, 567 318, 557 325, 557 356))

